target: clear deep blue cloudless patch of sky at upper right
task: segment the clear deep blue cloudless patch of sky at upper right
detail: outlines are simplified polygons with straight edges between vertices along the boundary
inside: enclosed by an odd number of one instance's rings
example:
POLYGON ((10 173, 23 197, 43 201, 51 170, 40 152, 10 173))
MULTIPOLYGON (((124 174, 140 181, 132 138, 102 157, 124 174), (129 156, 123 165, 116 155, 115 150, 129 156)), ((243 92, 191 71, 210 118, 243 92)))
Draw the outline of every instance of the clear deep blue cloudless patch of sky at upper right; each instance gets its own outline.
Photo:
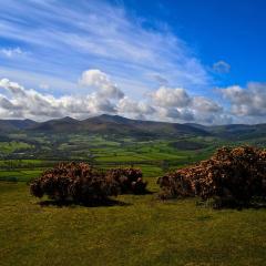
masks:
POLYGON ((140 16, 166 21, 173 32, 195 50, 204 64, 228 61, 232 72, 221 82, 245 85, 250 80, 265 81, 264 0, 126 2, 131 2, 133 9, 137 7, 140 16))

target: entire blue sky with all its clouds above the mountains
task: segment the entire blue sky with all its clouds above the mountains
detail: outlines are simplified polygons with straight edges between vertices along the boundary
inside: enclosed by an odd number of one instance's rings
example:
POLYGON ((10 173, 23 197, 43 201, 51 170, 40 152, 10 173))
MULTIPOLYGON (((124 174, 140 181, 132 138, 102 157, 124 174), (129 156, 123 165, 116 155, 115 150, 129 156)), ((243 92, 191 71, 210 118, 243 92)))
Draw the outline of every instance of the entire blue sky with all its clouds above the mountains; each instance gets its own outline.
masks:
POLYGON ((266 123, 264 0, 0 0, 0 119, 266 123))

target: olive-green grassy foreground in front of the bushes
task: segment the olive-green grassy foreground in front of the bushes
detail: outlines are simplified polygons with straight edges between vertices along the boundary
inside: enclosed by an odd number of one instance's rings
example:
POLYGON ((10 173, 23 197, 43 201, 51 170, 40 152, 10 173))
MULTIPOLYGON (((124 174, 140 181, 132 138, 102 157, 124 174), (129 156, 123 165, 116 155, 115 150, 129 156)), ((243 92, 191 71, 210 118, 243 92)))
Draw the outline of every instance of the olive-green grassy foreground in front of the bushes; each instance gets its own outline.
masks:
POLYGON ((213 211, 152 194, 116 200, 40 206, 25 183, 0 182, 0 265, 265 265, 266 209, 213 211))

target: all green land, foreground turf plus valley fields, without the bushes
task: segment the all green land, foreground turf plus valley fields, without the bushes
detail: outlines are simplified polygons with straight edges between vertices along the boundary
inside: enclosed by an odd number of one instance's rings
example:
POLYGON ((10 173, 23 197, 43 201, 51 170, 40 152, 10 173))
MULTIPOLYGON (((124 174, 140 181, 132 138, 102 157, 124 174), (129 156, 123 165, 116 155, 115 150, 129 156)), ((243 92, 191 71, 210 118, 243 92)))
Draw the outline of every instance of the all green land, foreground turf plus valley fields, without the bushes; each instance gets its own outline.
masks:
MULTIPOLYGON (((0 265, 265 265, 266 211, 214 211, 197 200, 157 200, 156 176, 207 158, 211 136, 142 141, 100 135, 11 135, 0 143, 0 265), (27 183, 59 162, 140 167, 149 195, 112 206, 57 206, 27 183)), ((265 139, 258 144, 265 146, 265 139)))

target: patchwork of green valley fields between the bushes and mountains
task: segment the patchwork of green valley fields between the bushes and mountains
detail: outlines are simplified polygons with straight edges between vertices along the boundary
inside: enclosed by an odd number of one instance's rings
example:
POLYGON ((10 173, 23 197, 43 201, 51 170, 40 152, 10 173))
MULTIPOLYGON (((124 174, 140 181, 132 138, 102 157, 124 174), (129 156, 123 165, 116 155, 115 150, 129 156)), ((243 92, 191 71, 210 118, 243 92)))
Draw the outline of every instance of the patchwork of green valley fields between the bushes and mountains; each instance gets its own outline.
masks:
POLYGON ((12 137, 9 143, 0 142, 2 181, 29 181, 59 162, 70 161, 86 162, 103 170, 133 165, 142 168, 146 177, 160 176, 173 168, 204 160, 217 146, 226 144, 219 139, 208 136, 150 141, 85 134, 9 137, 12 137), (198 144, 201 149, 197 149, 198 144), (184 145, 190 149, 184 149, 184 145), (193 146, 195 149, 191 149, 193 146))

